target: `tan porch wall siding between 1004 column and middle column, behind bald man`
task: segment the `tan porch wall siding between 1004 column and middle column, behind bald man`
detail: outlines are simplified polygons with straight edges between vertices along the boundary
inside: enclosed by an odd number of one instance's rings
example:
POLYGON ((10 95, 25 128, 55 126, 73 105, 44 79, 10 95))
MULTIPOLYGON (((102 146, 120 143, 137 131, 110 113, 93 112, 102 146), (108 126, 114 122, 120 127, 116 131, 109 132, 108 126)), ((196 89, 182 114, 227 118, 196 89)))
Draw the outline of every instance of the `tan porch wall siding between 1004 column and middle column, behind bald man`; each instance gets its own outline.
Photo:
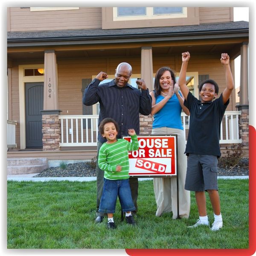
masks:
POLYGON ((82 79, 91 79, 100 71, 114 75, 117 65, 126 61, 133 73, 140 73, 140 58, 90 58, 58 61, 58 102, 61 115, 82 114, 82 79), (67 113, 68 111, 68 113, 67 113))

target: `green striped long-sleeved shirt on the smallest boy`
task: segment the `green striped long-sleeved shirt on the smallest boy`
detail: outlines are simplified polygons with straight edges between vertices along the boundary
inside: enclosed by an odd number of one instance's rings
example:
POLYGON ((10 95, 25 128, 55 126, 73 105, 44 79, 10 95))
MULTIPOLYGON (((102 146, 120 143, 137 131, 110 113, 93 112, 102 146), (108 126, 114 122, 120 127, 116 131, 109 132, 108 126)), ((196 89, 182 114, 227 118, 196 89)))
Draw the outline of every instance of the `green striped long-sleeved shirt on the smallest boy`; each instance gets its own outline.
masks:
POLYGON ((131 143, 125 139, 118 139, 115 143, 103 143, 99 149, 98 164, 104 170, 104 177, 108 180, 125 180, 129 178, 128 151, 139 149, 137 135, 131 136, 131 143), (116 166, 122 166, 121 172, 116 172, 116 166))

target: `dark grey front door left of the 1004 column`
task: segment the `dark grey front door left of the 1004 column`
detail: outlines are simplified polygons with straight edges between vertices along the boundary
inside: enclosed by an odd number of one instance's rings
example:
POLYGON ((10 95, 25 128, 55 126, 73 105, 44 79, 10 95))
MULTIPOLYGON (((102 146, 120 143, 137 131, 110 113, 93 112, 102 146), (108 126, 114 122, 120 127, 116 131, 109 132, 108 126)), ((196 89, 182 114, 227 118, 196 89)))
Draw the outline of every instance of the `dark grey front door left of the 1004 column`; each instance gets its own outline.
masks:
POLYGON ((43 148, 44 83, 25 83, 26 148, 43 148))

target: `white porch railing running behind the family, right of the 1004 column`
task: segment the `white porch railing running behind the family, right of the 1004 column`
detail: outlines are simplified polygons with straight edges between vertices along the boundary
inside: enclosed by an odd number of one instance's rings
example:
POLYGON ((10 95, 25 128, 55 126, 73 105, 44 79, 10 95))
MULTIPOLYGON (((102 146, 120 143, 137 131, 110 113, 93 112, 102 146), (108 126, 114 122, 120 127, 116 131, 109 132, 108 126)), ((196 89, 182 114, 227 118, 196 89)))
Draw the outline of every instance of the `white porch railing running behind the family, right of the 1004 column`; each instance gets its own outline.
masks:
MULTIPOLYGON (((241 143, 239 139, 239 115, 241 111, 226 111, 221 122, 220 143, 241 143)), ((61 120, 60 146, 96 146, 98 115, 59 116, 61 120)), ((181 114, 184 134, 187 138, 189 116, 181 114), (185 124, 185 125, 184 125, 185 124)))

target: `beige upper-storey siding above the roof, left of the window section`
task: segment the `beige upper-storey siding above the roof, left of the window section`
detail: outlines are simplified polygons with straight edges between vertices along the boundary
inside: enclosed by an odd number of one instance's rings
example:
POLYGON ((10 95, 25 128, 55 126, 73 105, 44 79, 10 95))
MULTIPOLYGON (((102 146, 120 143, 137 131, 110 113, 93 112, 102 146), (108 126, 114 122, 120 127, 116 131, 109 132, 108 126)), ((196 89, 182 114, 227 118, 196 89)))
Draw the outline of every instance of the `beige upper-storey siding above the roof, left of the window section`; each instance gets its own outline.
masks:
POLYGON ((100 7, 79 10, 30 12, 30 8, 10 8, 10 32, 61 29, 98 29, 102 26, 100 7))

